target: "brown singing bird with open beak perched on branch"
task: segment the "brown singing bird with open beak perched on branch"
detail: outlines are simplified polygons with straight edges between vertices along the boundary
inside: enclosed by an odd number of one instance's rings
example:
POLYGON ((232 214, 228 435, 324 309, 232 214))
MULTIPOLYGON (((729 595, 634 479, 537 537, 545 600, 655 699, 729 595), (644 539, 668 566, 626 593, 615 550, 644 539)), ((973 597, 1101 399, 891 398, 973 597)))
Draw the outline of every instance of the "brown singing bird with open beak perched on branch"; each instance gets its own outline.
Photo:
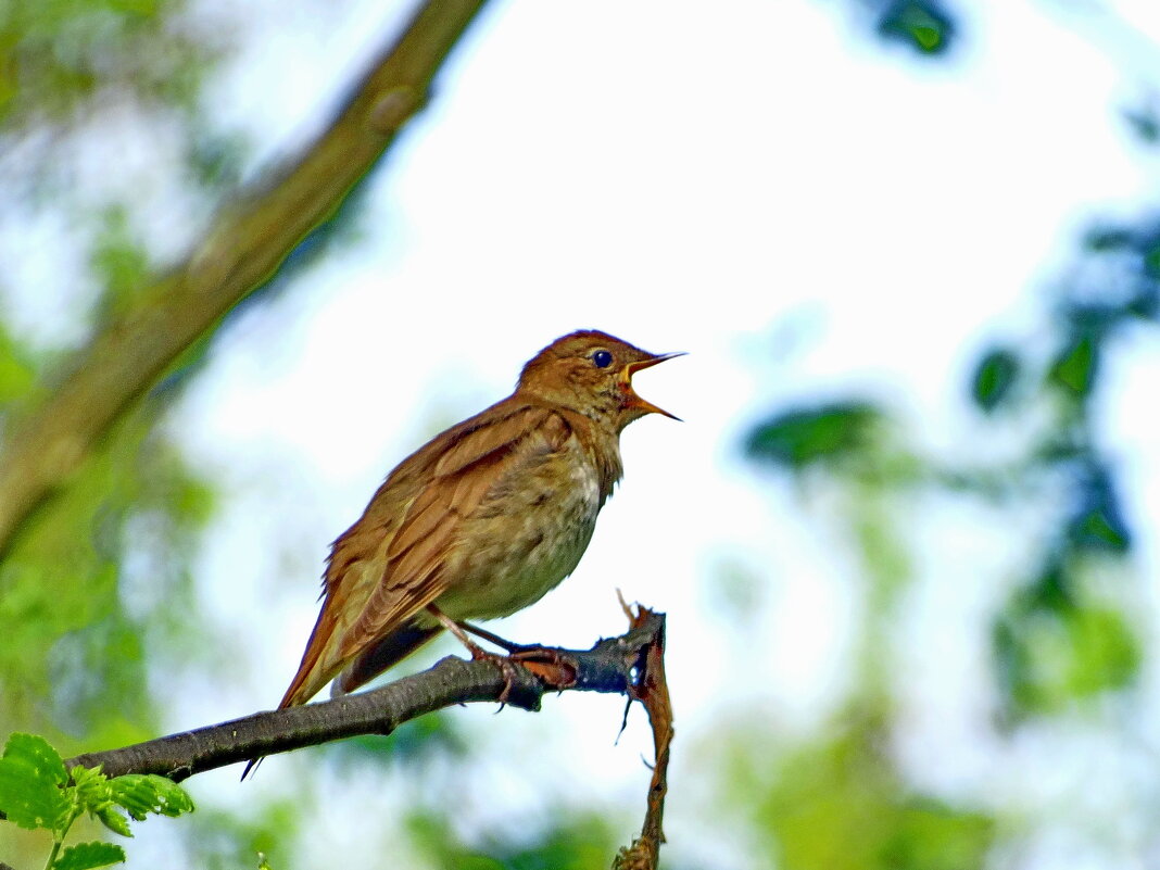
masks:
POLYGON ((539 601, 572 573, 623 473, 619 435, 650 413, 654 355, 595 331, 534 356, 515 392, 392 471, 331 548, 322 608, 280 706, 345 694, 444 629, 539 601))

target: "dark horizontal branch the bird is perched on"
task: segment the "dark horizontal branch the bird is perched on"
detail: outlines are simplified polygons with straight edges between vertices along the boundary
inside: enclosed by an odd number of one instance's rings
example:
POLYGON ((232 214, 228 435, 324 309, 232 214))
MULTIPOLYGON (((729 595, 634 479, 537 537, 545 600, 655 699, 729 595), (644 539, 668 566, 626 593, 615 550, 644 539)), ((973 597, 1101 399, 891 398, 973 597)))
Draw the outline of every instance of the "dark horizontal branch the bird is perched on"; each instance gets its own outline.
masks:
MULTIPOLYGON (((601 640, 592 650, 535 647, 519 653, 522 667, 515 668, 507 703, 538 710, 544 693, 570 689, 637 696, 655 658, 648 651, 662 648, 664 631, 664 614, 641 608, 641 618, 628 633, 601 640)), ((203 770, 262 755, 355 734, 390 734, 423 713, 471 702, 498 702, 506 688, 505 676, 494 662, 449 657, 428 670, 372 691, 86 753, 65 764, 68 769, 100 764, 109 776, 160 774, 181 782, 203 770)))

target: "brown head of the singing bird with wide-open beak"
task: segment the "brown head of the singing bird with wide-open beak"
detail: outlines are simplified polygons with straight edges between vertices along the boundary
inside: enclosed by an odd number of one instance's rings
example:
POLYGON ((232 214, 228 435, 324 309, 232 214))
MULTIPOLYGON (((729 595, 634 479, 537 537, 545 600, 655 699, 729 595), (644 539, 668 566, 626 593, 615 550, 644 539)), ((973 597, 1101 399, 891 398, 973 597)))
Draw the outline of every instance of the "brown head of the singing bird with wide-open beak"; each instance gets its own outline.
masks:
POLYGON ((610 423, 617 433, 645 414, 667 411, 641 399, 632 375, 683 354, 650 354, 595 329, 557 339, 534 356, 520 374, 517 391, 610 423))

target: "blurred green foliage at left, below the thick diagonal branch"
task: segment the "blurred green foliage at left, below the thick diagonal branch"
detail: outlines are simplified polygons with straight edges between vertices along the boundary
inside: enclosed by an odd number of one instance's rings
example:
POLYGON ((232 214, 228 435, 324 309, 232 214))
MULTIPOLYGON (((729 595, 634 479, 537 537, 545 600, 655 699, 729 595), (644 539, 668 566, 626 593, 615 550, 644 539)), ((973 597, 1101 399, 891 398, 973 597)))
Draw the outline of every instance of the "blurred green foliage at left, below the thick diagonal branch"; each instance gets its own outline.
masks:
POLYGON ((0 731, 32 728, 70 753, 143 739, 155 728, 146 647, 171 662, 196 650, 188 560, 212 496, 154 429, 159 409, 123 421, 0 565, 0 675, 20 675, 0 676, 0 731), (133 600, 129 564, 148 571, 133 600))

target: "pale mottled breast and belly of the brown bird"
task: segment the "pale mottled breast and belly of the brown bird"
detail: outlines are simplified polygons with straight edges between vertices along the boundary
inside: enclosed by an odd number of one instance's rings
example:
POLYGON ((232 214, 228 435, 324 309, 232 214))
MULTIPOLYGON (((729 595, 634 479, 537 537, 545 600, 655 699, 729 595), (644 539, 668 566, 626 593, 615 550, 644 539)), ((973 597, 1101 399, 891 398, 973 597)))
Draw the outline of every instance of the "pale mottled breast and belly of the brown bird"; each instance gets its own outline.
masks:
POLYGON ((452 619, 493 619, 538 601, 580 561, 601 502, 575 437, 514 469, 463 522, 450 586, 435 603, 452 619))

